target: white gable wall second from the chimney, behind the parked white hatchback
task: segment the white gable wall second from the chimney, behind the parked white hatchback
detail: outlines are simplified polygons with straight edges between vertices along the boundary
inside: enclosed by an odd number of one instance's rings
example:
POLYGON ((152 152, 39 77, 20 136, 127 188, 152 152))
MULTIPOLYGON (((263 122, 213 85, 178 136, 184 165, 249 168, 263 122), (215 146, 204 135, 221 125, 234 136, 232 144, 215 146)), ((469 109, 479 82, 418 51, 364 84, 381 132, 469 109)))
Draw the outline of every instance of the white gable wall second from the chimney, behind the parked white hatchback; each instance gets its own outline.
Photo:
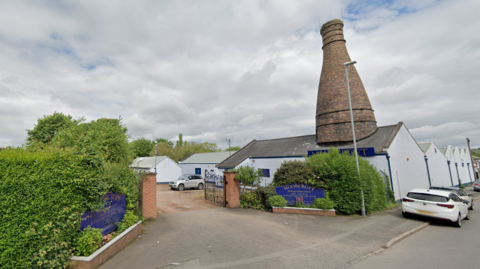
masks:
POLYGON ((428 158, 428 168, 432 186, 452 186, 448 172, 447 158, 435 144, 425 153, 428 158))

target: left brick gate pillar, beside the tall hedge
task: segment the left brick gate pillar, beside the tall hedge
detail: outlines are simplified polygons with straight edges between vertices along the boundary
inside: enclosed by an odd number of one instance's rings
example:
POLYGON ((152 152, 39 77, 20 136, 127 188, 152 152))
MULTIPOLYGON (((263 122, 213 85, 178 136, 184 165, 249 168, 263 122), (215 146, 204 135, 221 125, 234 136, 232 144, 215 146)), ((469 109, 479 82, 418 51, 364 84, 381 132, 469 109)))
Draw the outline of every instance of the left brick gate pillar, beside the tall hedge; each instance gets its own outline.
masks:
POLYGON ((157 218, 157 173, 148 172, 142 178, 142 214, 145 219, 157 218))

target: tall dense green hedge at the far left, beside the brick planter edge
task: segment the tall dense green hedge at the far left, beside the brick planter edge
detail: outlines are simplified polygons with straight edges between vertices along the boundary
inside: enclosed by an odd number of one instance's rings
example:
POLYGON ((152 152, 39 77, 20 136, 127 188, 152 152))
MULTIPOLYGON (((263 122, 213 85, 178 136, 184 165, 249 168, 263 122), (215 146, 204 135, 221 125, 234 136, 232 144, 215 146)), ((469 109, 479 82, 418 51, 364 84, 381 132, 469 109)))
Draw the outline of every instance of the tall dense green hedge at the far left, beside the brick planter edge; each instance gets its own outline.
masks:
POLYGON ((70 149, 0 151, 0 267, 65 267, 85 210, 101 209, 109 191, 134 207, 137 186, 129 169, 93 165, 70 149))

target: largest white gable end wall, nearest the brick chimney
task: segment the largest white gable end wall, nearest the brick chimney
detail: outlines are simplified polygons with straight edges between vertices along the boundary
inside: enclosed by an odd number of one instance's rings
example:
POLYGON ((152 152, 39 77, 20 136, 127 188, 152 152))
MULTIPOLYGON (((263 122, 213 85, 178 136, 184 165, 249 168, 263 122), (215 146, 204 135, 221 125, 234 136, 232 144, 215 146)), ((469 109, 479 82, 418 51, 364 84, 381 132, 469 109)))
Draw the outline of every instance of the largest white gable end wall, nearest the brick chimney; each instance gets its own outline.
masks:
POLYGON ((393 139, 388 154, 396 200, 403 198, 414 188, 429 187, 423 151, 405 125, 402 125, 393 139))

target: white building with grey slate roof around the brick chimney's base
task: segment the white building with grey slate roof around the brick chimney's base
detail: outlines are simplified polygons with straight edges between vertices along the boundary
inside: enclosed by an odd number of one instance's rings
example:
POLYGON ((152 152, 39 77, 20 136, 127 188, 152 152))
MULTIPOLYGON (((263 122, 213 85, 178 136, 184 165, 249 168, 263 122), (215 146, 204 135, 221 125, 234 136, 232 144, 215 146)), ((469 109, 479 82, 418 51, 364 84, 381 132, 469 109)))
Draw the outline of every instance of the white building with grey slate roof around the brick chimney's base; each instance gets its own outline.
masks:
MULTIPOLYGON (((353 142, 338 148, 353 149, 353 142)), ((363 158, 385 175, 397 200, 413 188, 429 187, 424 153, 403 122, 379 127, 372 136, 358 141, 357 148, 373 148, 372 154, 363 158)), ((262 185, 268 185, 283 161, 304 161, 309 151, 316 150, 325 151, 328 147, 318 146, 315 135, 253 140, 221 162, 218 168, 253 165, 264 171, 262 185)))

